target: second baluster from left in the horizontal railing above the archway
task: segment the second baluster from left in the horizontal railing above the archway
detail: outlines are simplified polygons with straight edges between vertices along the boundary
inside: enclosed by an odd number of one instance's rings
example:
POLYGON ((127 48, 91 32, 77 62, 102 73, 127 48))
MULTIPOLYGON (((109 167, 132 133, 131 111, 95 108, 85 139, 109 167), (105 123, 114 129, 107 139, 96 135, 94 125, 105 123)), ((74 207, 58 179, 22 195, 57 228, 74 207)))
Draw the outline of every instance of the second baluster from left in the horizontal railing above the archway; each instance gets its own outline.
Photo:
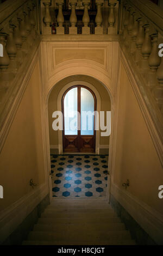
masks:
POLYGON ((64 23, 64 15, 62 14, 62 6, 64 4, 64 0, 57 0, 57 5, 58 5, 58 16, 57 16, 57 22, 59 27, 57 27, 57 34, 58 35, 64 35, 65 34, 65 29, 63 27, 64 23))

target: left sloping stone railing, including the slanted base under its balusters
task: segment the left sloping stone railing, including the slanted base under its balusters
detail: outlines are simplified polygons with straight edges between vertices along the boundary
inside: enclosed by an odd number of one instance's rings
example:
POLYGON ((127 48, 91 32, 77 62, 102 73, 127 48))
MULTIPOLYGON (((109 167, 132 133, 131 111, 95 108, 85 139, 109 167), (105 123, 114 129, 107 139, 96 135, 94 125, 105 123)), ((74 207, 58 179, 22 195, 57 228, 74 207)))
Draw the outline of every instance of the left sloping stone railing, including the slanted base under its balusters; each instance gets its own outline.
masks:
POLYGON ((8 0, 0 5, 0 130, 39 46, 37 0, 8 0), (29 64, 29 65, 28 65, 29 64))

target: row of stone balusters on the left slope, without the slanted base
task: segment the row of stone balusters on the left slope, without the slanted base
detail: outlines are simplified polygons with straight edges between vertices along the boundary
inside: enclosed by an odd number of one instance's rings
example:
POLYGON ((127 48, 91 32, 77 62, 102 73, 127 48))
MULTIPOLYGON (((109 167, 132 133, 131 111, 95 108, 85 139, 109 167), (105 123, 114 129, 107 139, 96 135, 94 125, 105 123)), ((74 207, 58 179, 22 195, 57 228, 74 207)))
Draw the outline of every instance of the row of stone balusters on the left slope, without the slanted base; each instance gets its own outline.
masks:
MULTIPOLYGON (((3 108, 5 113, 9 108, 11 91, 16 94, 18 89, 17 74, 22 64, 26 62, 33 48, 33 42, 38 38, 36 26, 36 13, 38 13, 37 0, 22 1, 13 3, 14 8, 9 17, 1 20, 0 24, 0 44, 3 45, 3 57, 0 57, 0 115, 2 120, 3 108), (15 85, 15 87, 13 87, 15 85), (7 107, 8 106, 8 107, 7 107)), ((3 4, 0 9, 0 17, 3 15, 3 4)), ((7 5, 5 4, 5 13, 7 5)), ((9 6, 10 10, 10 6, 9 6)), ((38 43, 38 42, 37 42, 38 43)))

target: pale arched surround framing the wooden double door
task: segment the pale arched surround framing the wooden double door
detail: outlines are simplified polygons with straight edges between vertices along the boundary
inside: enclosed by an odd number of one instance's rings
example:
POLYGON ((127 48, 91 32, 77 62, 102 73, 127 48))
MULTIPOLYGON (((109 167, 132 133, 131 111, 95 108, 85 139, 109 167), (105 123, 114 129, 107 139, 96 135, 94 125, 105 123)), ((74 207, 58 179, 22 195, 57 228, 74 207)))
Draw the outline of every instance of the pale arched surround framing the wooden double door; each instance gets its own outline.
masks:
MULTIPOLYGON (((61 101, 62 96, 65 94, 66 90, 68 90, 70 87, 73 86, 85 86, 93 91, 93 93, 96 96, 96 111, 98 113, 101 111, 101 96, 98 93, 98 90, 92 86, 91 83, 85 82, 85 81, 73 81, 70 83, 67 83, 62 89, 60 90, 58 97, 57 97, 57 110, 62 111, 61 101)), ((96 131, 96 148, 95 153, 99 154, 99 142, 100 142, 100 130, 96 131)), ((63 141, 62 141, 62 131, 58 130, 58 147, 59 147, 59 154, 63 153, 63 141)))

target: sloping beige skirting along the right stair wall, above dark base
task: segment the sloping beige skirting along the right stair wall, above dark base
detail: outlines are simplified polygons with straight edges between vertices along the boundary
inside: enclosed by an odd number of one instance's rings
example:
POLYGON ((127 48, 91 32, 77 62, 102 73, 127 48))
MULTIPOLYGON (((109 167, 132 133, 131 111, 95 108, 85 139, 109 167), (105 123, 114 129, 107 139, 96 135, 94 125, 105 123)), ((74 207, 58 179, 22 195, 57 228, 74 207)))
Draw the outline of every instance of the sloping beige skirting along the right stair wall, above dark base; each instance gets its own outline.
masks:
POLYGON ((158 245, 163 245, 163 216, 147 204, 111 184, 111 195, 158 245))

